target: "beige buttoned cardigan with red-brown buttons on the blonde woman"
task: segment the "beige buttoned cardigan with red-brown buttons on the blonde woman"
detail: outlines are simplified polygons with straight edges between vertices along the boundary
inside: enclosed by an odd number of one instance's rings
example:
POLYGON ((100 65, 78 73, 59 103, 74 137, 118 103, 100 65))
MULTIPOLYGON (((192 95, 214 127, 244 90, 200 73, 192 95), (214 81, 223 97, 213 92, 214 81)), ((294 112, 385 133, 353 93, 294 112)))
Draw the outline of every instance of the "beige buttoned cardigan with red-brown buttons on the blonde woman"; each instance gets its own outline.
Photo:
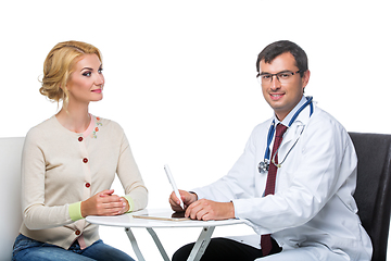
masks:
POLYGON ((90 246, 99 239, 98 226, 81 217, 80 201, 109 189, 115 173, 130 210, 146 208, 148 190, 117 123, 91 116, 88 129, 77 134, 52 116, 33 127, 23 150, 20 232, 65 249, 76 239, 90 246))

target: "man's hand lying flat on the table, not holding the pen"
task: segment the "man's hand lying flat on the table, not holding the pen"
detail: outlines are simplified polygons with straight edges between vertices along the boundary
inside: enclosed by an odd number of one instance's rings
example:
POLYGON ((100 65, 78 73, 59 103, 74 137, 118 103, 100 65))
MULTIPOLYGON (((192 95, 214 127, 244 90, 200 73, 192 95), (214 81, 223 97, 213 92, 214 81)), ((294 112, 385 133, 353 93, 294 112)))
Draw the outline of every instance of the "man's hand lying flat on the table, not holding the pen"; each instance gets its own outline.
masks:
POLYGON ((200 199, 187 208, 185 216, 203 221, 235 219, 235 208, 232 202, 200 199))

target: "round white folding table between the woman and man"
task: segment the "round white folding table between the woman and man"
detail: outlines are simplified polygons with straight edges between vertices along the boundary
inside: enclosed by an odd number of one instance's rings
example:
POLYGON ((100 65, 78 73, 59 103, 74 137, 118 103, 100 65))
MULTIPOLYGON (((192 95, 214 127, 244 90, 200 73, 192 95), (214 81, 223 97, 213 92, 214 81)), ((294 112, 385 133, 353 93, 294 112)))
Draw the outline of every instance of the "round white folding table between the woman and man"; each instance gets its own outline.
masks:
POLYGON ((163 248, 162 243, 160 241, 156 233, 153 231, 155 227, 202 227, 201 234, 195 241, 193 249, 190 252, 188 261, 199 261, 204 253, 213 231, 216 226, 225 226, 225 225, 234 225, 234 224, 241 224, 243 221, 241 220, 223 220, 223 221, 163 221, 163 220, 147 220, 147 219, 137 219, 134 217, 133 214, 142 214, 146 213, 159 213, 162 211, 169 211, 169 210, 141 210, 134 213, 128 213, 124 215, 115 215, 115 216, 96 216, 90 215, 87 216, 86 220, 89 223, 97 224, 97 225, 106 225, 106 226, 121 226, 125 227, 125 232, 129 237, 134 251, 139 261, 144 261, 144 258, 137 245, 136 238, 131 232, 131 227, 144 227, 152 236, 159 251, 161 252, 163 259, 165 261, 169 261, 169 258, 163 248))

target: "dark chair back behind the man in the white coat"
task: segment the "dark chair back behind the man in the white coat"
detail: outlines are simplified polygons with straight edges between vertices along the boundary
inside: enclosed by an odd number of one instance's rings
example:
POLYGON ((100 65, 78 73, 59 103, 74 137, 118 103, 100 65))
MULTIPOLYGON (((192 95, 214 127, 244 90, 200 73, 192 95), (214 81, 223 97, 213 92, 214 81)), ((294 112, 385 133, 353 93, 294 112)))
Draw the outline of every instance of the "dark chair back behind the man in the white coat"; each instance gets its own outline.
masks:
POLYGON ((357 157, 354 198, 374 246, 373 261, 386 261, 391 212, 391 135, 349 133, 357 157))

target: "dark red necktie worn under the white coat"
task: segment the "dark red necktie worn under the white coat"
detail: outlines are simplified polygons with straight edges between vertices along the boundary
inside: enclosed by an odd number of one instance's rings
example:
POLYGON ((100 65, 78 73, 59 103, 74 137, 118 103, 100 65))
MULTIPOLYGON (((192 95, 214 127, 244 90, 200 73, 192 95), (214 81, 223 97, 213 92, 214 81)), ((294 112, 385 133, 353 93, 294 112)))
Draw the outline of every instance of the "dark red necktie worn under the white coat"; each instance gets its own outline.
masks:
MULTIPOLYGON (((276 187, 276 175, 277 175, 277 166, 272 162, 274 154, 276 153, 278 147, 282 141, 282 135, 287 130, 287 126, 282 124, 277 124, 276 127, 276 137, 275 142, 273 145, 273 151, 270 154, 270 165, 267 173, 267 181, 266 181, 266 188, 265 188, 265 197, 266 195, 274 195, 275 187, 276 187)), ((278 154, 274 158, 276 164, 278 163, 278 154)), ((272 251, 272 238, 270 234, 262 235, 261 236, 261 248, 262 248, 262 256, 266 257, 272 251)))

